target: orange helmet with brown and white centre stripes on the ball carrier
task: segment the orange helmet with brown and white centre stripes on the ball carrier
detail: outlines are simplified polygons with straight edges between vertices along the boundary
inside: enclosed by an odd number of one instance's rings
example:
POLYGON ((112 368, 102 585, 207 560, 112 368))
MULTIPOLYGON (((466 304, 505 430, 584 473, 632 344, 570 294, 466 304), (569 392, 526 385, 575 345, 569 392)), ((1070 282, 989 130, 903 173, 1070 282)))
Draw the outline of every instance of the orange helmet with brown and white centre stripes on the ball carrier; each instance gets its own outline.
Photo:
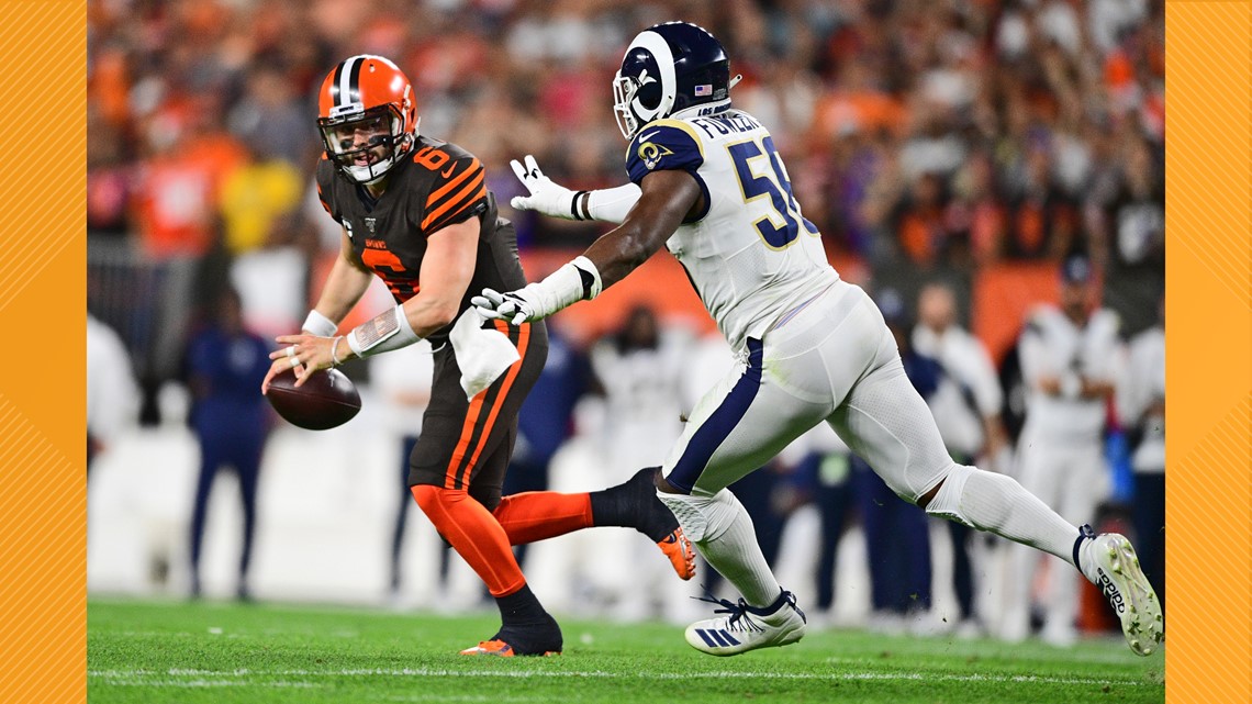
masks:
POLYGON ((417 105, 404 71, 383 56, 341 61, 318 90, 327 157, 357 183, 374 183, 413 148, 417 105))

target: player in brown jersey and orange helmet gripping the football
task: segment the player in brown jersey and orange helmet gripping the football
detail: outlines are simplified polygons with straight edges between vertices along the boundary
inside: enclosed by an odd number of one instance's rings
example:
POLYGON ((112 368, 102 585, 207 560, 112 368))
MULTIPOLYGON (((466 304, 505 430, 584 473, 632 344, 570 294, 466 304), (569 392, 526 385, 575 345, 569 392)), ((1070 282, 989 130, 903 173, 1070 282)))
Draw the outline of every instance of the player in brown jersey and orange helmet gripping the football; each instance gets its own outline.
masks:
POLYGON ((561 629, 527 588, 510 545, 591 526, 630 526, 656 541, 679 575, 690 579, 695 554, 656 499, 655 467, 592 494, 501 497, 517 411, 543 367, 547 334, 540 322, 493 322, 520 358, 467 400, 458 361, 467 363, 481 351, 458 344, 453 323, 482 327, 470 291, 526 284, 513 225, 497 217, 478 159, 418 132, 412 85, 392 61, 344 60, 322 83, 318 108, 326 154, 317 185, 326 210, 343 225, 341 256, 303 332, 277 338, 287 347, 270 355, 262 390, 287 370, 295 371, 299 386, 313 371, 429 341, 434 376, 408 484, 434 527, 487 584, 502 620, 498 633, 463 654, 561 651, 561 629), (337 334, 374 276, 396 307, 337 334))

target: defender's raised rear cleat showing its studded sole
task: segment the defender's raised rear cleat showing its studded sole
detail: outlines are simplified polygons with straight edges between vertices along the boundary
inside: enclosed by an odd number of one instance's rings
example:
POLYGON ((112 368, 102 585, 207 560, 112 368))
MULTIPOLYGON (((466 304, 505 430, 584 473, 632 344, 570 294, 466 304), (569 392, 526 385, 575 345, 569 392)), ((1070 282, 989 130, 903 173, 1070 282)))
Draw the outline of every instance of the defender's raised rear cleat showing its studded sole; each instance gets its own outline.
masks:
POLYGON ((1087 579, 1104 593, 1122 620, 1126 643, 1136 655, 1151 655, 1164 638, 1161 601, 1139 569, 1139 557, 1131 541, 1116 532, 1104 532, 1083 545, 1087 579))

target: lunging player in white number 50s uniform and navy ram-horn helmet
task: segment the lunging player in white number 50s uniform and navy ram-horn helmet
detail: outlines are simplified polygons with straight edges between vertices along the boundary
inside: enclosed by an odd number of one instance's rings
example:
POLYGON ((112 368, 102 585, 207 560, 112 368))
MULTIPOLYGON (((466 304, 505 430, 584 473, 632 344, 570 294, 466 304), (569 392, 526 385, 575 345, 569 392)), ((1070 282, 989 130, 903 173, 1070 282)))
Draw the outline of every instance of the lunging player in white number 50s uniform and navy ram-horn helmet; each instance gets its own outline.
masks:
POLYGON ((547 179, 533 158, 513 165, 531 192, 515 207, 620 227, 543 281, 485 289, 475 301, 485 314, 520 324, 596 297, 662 246, 686 268, 739 365, 696 406, 657 491, 742 594, 721 601, 725 615, 687 626, 687 643, 734 655, 804 635, 795 596, 774 579, 751 519, 726 486, 825 421, 929 514, 1077 566, 1104 588, 1131 648, 1152 653, 1161 611, 1124 537, 1075 527, 1013 479, 948 456, 881 313, 828 263, 769 130, 731 106, 736 81, 704 29, 667 23, 640 33, 613 79, 631 183, 575 193, 547 179))

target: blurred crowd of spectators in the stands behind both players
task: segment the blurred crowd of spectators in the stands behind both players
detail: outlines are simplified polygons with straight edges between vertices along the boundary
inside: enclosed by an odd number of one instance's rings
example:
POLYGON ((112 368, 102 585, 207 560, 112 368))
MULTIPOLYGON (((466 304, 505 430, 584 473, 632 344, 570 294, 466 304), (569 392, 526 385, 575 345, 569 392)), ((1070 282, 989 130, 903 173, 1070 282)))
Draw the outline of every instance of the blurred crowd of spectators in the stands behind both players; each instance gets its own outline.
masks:
MULTIPOLYGON (((636 31, 679 18, 725 43, 735 104, 772 130, 833 252, 974 271, 1084 251, 1151 324, 1159 0, 93 0, 88 228, 154 257, 333 247, 304 197, 313 95, 358 53, 399 64, 422 132, 477 154, 502 202, 523 154, 573 188, 622 183, 610 79, 636 31)), ((523 246, 602 232, 521 219, 523 246)))

